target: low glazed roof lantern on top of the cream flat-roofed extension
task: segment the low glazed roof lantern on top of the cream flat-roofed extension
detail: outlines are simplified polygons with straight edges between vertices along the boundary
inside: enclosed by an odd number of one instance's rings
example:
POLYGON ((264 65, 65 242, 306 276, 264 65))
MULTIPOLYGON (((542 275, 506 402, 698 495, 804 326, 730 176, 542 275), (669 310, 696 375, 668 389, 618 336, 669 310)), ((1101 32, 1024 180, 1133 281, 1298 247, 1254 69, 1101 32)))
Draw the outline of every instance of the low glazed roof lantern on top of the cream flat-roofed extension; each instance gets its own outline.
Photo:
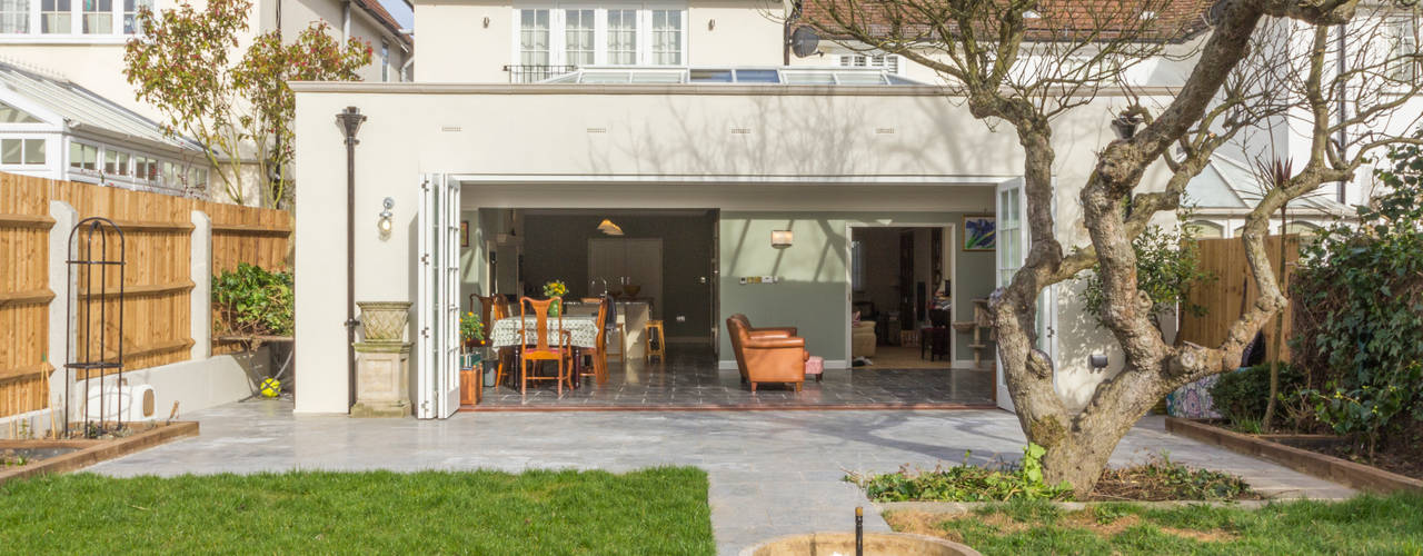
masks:
POLYGON ((924 85, 882 68, 852 67, 582 67, 541 84, 924 85))

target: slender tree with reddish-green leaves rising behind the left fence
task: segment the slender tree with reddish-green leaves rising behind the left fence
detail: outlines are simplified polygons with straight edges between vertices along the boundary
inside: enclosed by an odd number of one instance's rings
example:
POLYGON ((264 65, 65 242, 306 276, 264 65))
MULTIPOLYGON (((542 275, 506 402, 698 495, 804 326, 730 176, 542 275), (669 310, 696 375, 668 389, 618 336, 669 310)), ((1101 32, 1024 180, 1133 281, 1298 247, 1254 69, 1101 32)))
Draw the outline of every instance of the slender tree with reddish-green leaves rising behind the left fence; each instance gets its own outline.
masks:
POLYGON ((354 38, 339 43, 313 21, 290 44, 276 31, 259 34, 235 58, 250 13, 249 0, 208 0, 201 11, 186 1, 159 14, 139 9, 144 34, 128 41, 124 74, 138 100, 168 118, 169 135, 203 146, 231 201, 248 201, 252 176, 258 201, 275 208, 290 192, 296 100, 286 81, 354 81, 371 51, 354 38))

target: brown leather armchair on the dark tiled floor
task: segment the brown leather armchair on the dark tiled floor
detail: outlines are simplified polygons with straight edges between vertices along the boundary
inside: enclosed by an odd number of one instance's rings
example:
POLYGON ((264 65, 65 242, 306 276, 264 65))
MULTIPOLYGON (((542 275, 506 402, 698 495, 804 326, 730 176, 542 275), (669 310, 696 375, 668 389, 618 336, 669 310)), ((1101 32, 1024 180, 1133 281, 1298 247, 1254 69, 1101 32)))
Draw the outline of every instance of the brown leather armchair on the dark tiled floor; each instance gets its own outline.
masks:
POLYGON ((805 383, 805 338, 795 336, 794 327, 753 328, 744 314, 733 314, 726 320, 731 338, 736 365, 741 370, 741 381, 791 383, 795 391, 805 383))

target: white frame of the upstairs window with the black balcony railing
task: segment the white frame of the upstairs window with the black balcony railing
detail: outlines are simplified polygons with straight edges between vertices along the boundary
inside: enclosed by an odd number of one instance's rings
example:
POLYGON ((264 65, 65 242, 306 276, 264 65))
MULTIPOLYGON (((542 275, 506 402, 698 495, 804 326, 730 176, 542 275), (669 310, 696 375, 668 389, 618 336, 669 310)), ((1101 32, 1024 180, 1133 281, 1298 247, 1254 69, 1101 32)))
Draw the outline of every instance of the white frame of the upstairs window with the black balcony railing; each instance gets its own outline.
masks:
POLYGON ((589 4, 589 3, 518 3, 514 4, 511 20, 511 41, 509 41, 509 64, 524 65, 522 61, 522 44, 521 44, 521 30, 522 30, 522 11, 524 10, 548 10, 548 65, 572 65, 568 63, 568 27, 566 27, 566 11, 565 10, 593 10, 593 64, 592 65, 612 65, 608 63, 608 10, 638 10, 638 55, 633 64, 618 64, 618 65, 653 65, 652 64, 652 11, 653 10, 675 10, 682 11, 682 63, 673 65, 659 65, 659 67, 687 67, 692 51, 689 48, 690 36, 690 17, 687 13, 687 4, 679 1, 643 1, 643 3, 616 3, 616 4, 589 4))

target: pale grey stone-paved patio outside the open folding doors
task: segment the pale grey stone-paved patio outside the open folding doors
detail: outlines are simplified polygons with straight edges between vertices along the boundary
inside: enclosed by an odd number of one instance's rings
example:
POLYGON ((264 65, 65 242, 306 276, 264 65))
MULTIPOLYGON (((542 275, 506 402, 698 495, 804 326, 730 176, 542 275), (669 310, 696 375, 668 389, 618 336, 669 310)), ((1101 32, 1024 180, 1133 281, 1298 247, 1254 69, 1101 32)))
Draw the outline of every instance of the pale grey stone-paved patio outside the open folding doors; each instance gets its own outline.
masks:
MULTIPOLYGON (((286 401, 229 404, 184 415, 196 438, 162 445, 90 471, 181 475, 283 469, 576 468, 615 472, 694 465, 710 475, 717 552, 734 555, 767 538, 850 530, 868 502, 841 481, 848 471, 894 471, 1016 458, 1017 419, 1003 411, 743 411, 743 412, 467 412, 448 421, 292 415, 286 401)), ((1275 496, 1342 498, 1353 491, 1291 469, 1165 434, 1144 419, 1114 464, 1167 451, 1192 465, 1242 475, 1275 496)), ((885 530, 878 513, 867 528, 885 530)))

